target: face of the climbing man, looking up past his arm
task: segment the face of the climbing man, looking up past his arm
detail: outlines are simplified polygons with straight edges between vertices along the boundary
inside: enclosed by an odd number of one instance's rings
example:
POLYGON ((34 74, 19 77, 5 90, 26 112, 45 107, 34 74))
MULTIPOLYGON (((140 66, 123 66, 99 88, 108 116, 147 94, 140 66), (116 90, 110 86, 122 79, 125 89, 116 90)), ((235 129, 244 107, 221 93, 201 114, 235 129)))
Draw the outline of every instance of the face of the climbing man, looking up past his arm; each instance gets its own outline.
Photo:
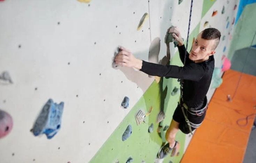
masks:
POLYGON ((195 61, 195 63, 208 60, 209 56, 215 53, 215 50, 213 49, 214 44, 215 40, 205 40, 201 38, 201 33, 199 33, 192 45, 189 59, 195 61))

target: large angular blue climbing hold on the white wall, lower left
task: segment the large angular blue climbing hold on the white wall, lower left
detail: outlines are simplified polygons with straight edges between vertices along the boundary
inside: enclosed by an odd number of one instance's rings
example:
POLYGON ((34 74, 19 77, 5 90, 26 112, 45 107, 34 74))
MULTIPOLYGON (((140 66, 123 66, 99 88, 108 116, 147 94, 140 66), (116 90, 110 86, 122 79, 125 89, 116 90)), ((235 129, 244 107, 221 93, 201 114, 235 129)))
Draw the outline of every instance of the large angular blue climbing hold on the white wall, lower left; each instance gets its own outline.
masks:
POLYGON ((45 134, 48 139, 51 139, 54 135, 56 135, 61 127, 63 107, 63 102, 57 104, 54 103, 50 98, 44 105, 33 125, 33 134, 35 136, 45 134))

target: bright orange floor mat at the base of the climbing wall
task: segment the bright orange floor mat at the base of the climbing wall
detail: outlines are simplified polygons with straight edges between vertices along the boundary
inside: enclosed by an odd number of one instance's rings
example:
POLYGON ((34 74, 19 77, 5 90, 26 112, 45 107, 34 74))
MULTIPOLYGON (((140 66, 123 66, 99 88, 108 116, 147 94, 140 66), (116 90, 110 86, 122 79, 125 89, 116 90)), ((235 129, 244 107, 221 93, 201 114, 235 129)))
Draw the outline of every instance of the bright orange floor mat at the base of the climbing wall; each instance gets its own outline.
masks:
POLYGON ((206 117, 191 139, 182 163, 243 162, 255 118, 256 77, 228 70, 206 117), (232 101, 227 101, 227 95, 232 101), (253 115, 251 115, 253 114, 253 115), (247 115, 251 115, 248 122, 247 115), (239 125, 237 124, 237 120, 239 125))

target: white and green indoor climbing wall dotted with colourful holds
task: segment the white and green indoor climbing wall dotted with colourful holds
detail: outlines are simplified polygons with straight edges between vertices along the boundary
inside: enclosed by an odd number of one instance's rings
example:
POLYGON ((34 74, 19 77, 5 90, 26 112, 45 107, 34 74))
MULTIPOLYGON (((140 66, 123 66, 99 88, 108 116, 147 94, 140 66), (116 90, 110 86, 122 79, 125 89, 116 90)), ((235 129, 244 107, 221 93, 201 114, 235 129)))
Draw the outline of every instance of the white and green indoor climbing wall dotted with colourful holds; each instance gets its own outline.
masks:
MULTIPOLYGON (((218 28, 225 36, 214 54, 218 68, 236 4, 193 4, 189 50, 200 31, 218 28)), ((0 162, 163 161, 155 158, 179 83, 116 67, 113 59, 122 45, 136 58, 181 66, 173 42, 166 55, 165 35, 177 26, 186 42, 189 11, 182 0, 0 1, 0 162)), ((190 138, 178 132, 180 155, 164 162, 179 162, 190 138)))

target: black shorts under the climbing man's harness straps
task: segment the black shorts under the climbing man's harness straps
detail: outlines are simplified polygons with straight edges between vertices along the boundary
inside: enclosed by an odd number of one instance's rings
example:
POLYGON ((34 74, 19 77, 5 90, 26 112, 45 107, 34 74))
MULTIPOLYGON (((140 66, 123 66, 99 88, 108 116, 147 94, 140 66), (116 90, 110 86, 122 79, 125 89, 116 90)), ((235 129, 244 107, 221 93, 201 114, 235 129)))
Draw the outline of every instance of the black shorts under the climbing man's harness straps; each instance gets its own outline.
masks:
MULTIPOLYGON (((186 112, 186 109, 184 110, 186 112)), ((203 122, 204 120, 204 117, 206 115, 206 110, 205 112, 201 115, 201 116, 197 116, 197 115, 193 115, 193 114, 190 114, 189 112, 187 112, 187 117, 188 117, 188 120, 192 123, 195 123, 195 124, 200 124, 201 122, 203 122)), ((185 120, 185 117, 183 115, 183 112, 181 110, 181 107, 180 105, 178 104, 177 108, 175 109, 174 113, 173 113, 173 120, 175 120, 176 122, 179 122, 179 129, 184 133, 184 134, 189 134, 190 131, 189 131, 189 127, 188 127, 188 124, 185 120)), ((191 130, 195 130, 196 128, 194 127, 191 127, 191 130)))

